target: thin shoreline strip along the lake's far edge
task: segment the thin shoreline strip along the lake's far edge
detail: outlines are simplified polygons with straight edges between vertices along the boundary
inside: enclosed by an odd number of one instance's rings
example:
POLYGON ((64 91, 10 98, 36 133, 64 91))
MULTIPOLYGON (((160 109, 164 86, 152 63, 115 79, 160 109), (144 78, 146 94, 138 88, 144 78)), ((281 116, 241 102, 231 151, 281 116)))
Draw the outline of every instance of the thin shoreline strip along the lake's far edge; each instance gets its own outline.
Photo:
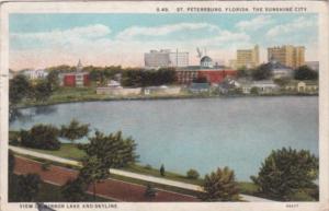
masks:
MULTIPOLYGON (((103 95, 100 95, 103 96, 103 95)), ((202 98, 238 98, 238 97, 314 97, 319 96, 319 94, 264 94, 264 95, 246 95, 246 94, 237 94, 237 95, 215 95, 215 96, 206 96, 206 95, 181 95, 181 96, 136 96, 136 97, 107 97, 107 98, 82 98, 82 99, 72 99, 72 101, 54 101, 46 103, 31 103, 23 104, 16 106, 18 109, 32 108, 32 107, 43 107, 43 106, 54 106, 61 104, 73 104, 73 103, 89 103, 89 102, 121 102, 121 101, 171 101, 171 99, 202 99, 202 98)))

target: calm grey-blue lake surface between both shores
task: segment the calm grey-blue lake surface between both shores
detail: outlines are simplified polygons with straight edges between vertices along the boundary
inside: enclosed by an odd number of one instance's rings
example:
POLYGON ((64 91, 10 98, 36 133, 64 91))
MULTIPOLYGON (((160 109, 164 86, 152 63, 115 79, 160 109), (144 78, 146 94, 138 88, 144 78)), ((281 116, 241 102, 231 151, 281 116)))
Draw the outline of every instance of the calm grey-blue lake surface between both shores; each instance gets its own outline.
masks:
POLYGON ((318 97, 90 102, 22 113, 26 117, 10 129, 76 118, 102 132, 122 130, 137 142, 141 164, 183 174, 229 166, 239 180, 249 180, 272 150, 292 146, 318 155, 318 97))

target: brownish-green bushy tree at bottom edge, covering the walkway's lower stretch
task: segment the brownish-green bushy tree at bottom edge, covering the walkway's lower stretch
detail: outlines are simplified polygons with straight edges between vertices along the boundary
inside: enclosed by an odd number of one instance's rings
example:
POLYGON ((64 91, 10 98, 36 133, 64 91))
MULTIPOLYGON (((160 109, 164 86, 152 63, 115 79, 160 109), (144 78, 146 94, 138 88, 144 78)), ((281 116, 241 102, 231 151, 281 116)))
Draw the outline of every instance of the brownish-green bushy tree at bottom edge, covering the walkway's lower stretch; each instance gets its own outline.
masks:
POLYGON ((234 171, 228 167, 217 168, 204 178, 205 194, 201 197, 205 201, 237 201, 239 189, 234 171))

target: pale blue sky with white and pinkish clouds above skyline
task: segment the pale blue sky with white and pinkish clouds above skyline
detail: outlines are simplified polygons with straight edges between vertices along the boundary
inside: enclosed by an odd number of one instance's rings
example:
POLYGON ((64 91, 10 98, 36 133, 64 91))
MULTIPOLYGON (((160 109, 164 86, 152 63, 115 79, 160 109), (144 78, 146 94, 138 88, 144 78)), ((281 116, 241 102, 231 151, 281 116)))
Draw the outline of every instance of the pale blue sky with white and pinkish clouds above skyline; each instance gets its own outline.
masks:
POLYGON ((188 51, 198 65, 196 47, 228 65, 237 49, 281 45, 306 47, 306 60, 318 60, 318 16, 305 14, 10 14, 13 70, 57 65, 143 67, 150 49, 188 51))

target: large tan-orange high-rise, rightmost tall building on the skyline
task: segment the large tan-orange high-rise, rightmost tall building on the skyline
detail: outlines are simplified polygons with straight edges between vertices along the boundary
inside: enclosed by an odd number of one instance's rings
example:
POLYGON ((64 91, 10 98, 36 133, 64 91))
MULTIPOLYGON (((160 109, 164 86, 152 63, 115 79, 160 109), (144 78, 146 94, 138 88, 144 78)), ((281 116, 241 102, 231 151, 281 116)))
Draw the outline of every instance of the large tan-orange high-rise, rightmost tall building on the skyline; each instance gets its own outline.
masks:
POLYGON ((305 47, 292 45, 271 47, 268 48, 268 59, 296 69, 305 65, 305 47))

